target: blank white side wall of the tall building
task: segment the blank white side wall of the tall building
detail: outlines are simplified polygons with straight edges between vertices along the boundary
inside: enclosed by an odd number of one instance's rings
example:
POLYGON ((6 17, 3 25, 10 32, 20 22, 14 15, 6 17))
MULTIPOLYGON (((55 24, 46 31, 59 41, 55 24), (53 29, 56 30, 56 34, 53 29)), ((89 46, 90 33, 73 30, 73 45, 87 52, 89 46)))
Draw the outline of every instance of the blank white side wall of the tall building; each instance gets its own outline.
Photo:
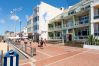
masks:
MULTIPOLYGON (((53 7, 51 5, 48 5, 44 2, 41 2, 39 5, 39 33, 42 33, 42 31, 48 31, 48 22, 55 16, 61 14, 63 11, 53 7), (45 16, 44 16, 45 15, 45 16)), ((40 38, 48 39, 48 33, 42 33, 40 38)))

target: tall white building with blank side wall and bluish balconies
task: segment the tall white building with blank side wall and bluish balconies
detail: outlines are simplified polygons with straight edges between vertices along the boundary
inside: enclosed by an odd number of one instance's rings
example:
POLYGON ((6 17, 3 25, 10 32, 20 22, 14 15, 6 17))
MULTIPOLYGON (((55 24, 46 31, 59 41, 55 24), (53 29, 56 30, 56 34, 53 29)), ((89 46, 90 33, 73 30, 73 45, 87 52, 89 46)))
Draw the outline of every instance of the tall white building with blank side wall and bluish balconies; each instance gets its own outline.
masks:
MULTIPOLYGON (((49 20, 51 20, 52 18, 54 18, 55 16, 57 16, 62 12, 63 12, 62 9, 56 8, 44 2, 40 2, 39 5, 34 7, 32 19, 33 23, 30 24, 32 25, 33 31, 31 32, 34 36, 34 39, 37 39, 37 34, 39 34, 39 39, 43 38, 47 40, 49 20)), ((29 28, 27 30, 29 32, 29 28)))

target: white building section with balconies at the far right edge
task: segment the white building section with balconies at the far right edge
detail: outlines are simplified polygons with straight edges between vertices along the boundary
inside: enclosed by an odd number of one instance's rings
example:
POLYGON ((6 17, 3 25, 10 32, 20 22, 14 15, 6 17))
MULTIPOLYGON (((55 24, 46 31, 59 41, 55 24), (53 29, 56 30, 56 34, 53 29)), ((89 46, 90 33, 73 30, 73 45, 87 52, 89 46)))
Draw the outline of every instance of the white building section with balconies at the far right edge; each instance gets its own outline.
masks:
POLYGON ((91 34, 99 38, 99 0, 91 3, 91 34))

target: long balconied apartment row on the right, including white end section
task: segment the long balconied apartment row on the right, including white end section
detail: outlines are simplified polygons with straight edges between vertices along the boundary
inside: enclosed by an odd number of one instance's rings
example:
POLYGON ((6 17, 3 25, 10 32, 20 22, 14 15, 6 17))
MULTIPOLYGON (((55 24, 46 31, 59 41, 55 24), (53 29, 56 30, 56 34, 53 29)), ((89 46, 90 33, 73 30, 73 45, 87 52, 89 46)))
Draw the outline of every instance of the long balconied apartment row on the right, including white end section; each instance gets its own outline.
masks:
POLYGON ((99 37, 99 0, 81 0, 48 24, 48 40, 84 41, 99 37))

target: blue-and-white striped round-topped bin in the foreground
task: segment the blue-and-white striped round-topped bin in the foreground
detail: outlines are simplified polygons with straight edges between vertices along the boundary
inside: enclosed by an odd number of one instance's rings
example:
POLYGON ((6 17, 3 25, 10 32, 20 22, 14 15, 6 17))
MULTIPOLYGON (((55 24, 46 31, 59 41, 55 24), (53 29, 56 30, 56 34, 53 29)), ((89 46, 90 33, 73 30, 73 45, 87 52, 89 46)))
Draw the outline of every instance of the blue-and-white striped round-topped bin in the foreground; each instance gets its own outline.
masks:
POLYGON ((19 55, 17 52, 10 50, 4 56, 4 66, 19 66, 19 55))

